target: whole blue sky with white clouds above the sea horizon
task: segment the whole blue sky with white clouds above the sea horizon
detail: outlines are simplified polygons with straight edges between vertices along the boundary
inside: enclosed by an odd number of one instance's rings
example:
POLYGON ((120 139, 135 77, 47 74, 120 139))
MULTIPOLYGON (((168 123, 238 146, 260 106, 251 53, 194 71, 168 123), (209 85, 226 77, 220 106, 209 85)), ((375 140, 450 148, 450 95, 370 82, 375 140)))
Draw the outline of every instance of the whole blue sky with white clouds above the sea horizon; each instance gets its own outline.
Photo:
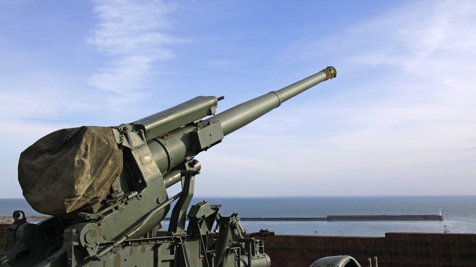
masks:
POLYGON ((200 196, 476 191, 473 1, 0 1, 1 197, 55 129, 337 78, 200 154, 200 196))

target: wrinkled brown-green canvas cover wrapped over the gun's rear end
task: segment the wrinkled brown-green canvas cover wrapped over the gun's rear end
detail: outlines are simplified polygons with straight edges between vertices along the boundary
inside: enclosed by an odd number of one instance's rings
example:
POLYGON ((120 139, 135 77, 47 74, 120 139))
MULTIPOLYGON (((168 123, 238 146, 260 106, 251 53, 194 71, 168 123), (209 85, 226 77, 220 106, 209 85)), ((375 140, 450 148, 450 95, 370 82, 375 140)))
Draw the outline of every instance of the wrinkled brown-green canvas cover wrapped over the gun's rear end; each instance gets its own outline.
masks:
POLYGON ((60 215, 100 201, 122 171, 122 151, 110 127, 61 129, 20 154, 18 180, 37 212, 60 215))

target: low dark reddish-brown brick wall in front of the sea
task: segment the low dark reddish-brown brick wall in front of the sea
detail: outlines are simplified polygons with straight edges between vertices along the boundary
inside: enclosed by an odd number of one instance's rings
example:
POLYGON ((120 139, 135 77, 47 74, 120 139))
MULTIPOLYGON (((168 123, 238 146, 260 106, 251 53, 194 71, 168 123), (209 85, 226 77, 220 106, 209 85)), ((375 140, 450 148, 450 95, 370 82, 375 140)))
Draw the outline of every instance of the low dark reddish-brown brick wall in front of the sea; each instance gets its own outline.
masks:
MULTIPOLYGON (((0 243, 7 226, 0 225, 0 243)), ((332 255, 351 255, 362 266, 374 256, 380 267, 476 266, 476 234, 389 232, 384 237, 275 235, 262 239, 273 267, 310 266, 332 255)))

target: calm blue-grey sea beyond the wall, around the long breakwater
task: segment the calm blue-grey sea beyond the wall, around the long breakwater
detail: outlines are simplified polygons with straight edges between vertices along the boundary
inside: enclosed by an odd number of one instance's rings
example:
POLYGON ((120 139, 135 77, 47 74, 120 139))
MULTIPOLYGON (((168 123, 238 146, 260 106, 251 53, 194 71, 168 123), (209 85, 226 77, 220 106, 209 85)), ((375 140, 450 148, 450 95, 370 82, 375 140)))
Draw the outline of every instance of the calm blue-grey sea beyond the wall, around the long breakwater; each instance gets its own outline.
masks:
MULTIPOLYGON (((476 233, 476 196, 329 196, 329 197, 194 197, 220 204, 225 215, 238 217, 324 217, 327 215, 438 214, 443 221, 242 221, 247 232, 269 229, 277 234, 384 236, 386 232, 476 233)), ((0 199, 0 216, 14 210, 39 215, 24 199, 0 199)), ((170 212, 169 212, 170 215, 170 212)), ((162 226, 167 228, 168 221, 162 226)))

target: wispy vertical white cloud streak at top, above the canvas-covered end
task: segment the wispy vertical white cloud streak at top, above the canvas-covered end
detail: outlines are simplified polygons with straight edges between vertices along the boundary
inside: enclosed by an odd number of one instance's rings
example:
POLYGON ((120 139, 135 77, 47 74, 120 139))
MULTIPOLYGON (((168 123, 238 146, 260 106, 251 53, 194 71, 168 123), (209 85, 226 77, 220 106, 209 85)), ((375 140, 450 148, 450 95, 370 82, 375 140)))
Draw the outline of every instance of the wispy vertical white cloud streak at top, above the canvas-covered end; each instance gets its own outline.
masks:
POLYGON ((88 84, 119 95, 138 93, 154 63, 173 56, 169 46, 180 41, 166 33, 170 28, 168 16, 176 5, 158 0, 94 3, 99 23, 88 42, 111 60, 88 84))

